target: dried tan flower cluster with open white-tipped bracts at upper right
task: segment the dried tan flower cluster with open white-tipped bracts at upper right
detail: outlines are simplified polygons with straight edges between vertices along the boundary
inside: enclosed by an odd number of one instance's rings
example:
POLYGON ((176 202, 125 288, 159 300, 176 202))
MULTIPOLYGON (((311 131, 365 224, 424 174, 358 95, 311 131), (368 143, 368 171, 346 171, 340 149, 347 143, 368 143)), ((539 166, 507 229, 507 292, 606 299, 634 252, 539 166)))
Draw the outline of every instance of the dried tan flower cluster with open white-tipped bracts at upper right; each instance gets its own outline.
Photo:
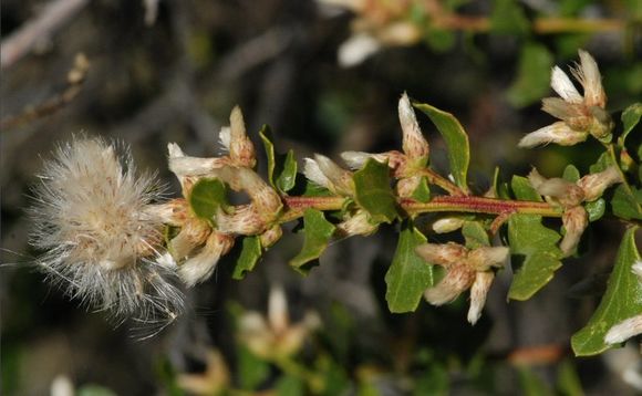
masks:
POLYGON ((613 122, 604 110, 607 95, 598 64, 586 51, 580 50, 579 55, 580 64, 571 73, 582 85, 583 97, 568 75, 555 66, 550 84, 560 97, 545 98, 542 110, 561 121, 526 135, 519 142, 519 147, 529 148, 549 143, 572 146, 584 142, 589 135, 604 142, 611 139, 613 122))

